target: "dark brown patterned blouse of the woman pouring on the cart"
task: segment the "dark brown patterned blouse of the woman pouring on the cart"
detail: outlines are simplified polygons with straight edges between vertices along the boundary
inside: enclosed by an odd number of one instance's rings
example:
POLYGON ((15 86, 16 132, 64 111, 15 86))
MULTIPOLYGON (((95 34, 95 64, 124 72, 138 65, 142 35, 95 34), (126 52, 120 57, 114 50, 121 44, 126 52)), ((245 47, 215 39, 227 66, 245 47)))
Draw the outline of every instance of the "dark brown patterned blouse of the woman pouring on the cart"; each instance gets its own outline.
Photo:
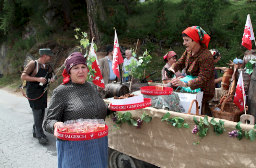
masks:
POLYGON ((189 81, 191 90, 201 88, 204 91, 202 103, 206 103, 214 97, 214 63, 211 52, 201 46, 196 54, 185 51, 182 57, 173 64, 175 72, 186 68, 188 75, 197 76, 189 81))

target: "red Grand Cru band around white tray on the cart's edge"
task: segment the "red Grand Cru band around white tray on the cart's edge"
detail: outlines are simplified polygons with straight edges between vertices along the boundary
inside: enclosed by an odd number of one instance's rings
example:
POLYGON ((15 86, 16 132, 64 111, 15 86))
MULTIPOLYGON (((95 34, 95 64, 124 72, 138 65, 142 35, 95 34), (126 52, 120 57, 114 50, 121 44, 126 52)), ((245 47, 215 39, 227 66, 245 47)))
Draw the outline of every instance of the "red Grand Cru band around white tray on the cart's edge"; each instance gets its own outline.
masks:
POLYGON ((126 110, 137 110, 145 107, 151 106, 152 102, 149 98, 144 98, 144 101, 141 103, 135 103, 130 105, 112 105, 110 104, 110 108, 113 111, 126 111, 126 110))

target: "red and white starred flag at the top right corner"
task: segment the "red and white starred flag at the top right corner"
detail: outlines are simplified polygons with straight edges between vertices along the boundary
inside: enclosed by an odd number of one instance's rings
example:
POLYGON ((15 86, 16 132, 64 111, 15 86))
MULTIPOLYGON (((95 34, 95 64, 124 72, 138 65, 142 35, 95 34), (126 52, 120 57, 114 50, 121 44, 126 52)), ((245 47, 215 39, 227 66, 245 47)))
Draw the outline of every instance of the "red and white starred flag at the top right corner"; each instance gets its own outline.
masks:
POLYGON ((252 49, 252 40, 254 40, 254 34, 252 29, 252 23, 250 21, 250 14, 247 15, 247 20, 245 23, 245 31, 243 33, 242 45, 247 49, 252 49))

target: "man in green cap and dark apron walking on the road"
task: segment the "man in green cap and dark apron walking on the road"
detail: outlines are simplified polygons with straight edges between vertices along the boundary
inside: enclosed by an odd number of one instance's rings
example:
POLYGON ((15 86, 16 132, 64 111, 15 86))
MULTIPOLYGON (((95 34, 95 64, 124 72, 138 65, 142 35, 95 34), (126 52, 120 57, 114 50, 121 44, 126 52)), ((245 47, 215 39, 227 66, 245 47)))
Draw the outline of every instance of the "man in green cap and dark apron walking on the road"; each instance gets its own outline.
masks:
MULTIPOLYGON (((47 90, 44 94, 43 92, 48 83, 49 74, 53 71, 46 63, 50 62, 53 54, 51 49, 40 49, 39 55, 38 60, 30 61, 24 68, 21 79, 27 81, 26 93, 34 118, 33 137, 37 137, 39 143, 44 144, 48 142, 42 127, 47 107, 47 90)), ((54 79, 50 79, 50 82, 54 82, 54 79)))

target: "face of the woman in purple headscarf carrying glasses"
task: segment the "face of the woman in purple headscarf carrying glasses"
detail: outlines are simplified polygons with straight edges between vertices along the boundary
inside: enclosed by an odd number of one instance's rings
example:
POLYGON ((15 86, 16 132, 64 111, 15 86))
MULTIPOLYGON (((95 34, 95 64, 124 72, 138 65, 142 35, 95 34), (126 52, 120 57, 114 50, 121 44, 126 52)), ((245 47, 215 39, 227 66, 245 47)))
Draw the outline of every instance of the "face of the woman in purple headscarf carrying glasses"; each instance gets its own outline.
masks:
POLYGON ((87 67, 82 63, 74 65, 70 69, 71 81, 74 83, 79 83, 79 84, 85 83, 87 79, 87 75, 88 75, 87 67))

